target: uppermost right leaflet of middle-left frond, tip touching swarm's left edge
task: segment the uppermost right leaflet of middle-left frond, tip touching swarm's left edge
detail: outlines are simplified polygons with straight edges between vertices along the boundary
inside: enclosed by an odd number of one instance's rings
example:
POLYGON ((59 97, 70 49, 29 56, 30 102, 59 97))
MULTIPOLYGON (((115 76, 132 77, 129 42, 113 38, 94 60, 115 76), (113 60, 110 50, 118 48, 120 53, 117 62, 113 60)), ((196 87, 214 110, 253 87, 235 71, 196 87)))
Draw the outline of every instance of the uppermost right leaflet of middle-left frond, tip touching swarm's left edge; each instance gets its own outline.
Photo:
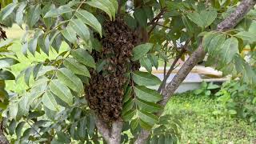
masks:
POLYGON ((71 55, 78 60, 78 62, 82 62, 82 64, 86 66, 90 66, 92 68, 96 68, 96 64, 94 62, 94 58, 84 49, 77 49, 71 52, 71 55))

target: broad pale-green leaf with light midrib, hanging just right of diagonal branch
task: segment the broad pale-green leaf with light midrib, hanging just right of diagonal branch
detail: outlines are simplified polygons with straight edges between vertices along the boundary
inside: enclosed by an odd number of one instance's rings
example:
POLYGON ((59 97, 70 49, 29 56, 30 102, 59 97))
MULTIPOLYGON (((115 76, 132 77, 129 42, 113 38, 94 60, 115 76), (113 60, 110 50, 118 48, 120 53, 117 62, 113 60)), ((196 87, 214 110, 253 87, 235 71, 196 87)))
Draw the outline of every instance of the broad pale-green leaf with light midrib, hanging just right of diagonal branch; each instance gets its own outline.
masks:
POLYGON ((238 39, 228 38, 221 47, 222 62, 229 63, 234 59, 235 54, 239 54, 238 39))

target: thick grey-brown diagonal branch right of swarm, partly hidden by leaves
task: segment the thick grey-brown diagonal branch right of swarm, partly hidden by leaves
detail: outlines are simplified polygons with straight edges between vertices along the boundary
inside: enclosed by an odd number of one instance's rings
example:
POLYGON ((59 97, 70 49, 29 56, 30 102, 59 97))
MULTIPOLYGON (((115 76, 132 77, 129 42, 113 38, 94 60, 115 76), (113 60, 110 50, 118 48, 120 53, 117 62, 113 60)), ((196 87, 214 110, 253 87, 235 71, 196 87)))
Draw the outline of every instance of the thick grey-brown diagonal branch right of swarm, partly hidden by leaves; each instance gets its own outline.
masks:
MULTIPOLYGON (((240 5, 237 7, 236 10, 228 18, 218 24, 217 30, 230 30, 234 28, 244 18, 244 16, 253 8, 255 5, 256 0, 243 0, 240 5)), ((178 89, 178 86, 184 81, 187 74, 194 68, 195 65, 199 61, 202 60, 206 55, 205 50, 202 47, 202 42, 198 46, 198 49, 194 51, 193 54, 190 55, 190 58, 186 60, 178 73, 172 79, 172 81, 165 87, 162 91, 163 99, 160 102, 162 106, 166 106, 166 103, 169 101, 171 96, 174 94, 174 91, 178 89)), ((162 112, 158 113, 161 115, 162 112)), ((138 138, 134 142, 135 144, 142 144, 146 142, 146 139, 149 137, 150 131, 149 130, 142 130, 141 133, 138 135, 138 138)))

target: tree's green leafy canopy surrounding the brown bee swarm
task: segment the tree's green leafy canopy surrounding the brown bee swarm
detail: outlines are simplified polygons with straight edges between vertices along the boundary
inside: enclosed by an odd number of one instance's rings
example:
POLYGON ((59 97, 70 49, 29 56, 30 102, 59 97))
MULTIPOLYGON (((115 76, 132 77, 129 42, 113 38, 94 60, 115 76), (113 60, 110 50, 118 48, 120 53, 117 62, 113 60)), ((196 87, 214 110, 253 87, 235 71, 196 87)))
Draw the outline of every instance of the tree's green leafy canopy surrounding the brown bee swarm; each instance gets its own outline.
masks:
MULTIPOLYGON (((102 27, 104 18, 115 22, 118 10, 131 29, 142 30, 139 34, 142 39, 148 37, 134 46, 133 57, 129 59, 130 63, 140 62, 147 71, 130 70, 126 74, 129 80, 123 88, 122 119, 128 123, 128 130, 137 130, 132 132, 130 139, 136 138, 138 131, 150 130, 156 125, 159 127, 154 130, 162 133, 153 130, 152 138, 160 142, 163 138, 173 138, 168 131, 174 129, 163 126, 165 121, 156 114, 162 110, 158 104, 162 95, 149 86, 158 86, 161 81, 151 74, 152 67, 158 68, 158 61, 169 62, 179 54, 184 58, 198 47, 201 39, 209 54, 209 66, 217 63, 214 66, 225 74, 232 72, 244 82, 254 84, 254 63, 246 62, 240 53, 244 46, 254 50, 255 10, 251 10, 234 30, 218 32, 214 31, 217 23, 226 18, 238 1, 211 2, 211 6, 190 0, 150 0, 141 2, 140 6, 136 1, 131 6, 126 6, 126 1, 118 5, 116 0, 20 0, 8 4, 2 9, 0 19, 6 26, 14 22, 21 27, 22 23, 26 24, 22 27, 26 34, 21 39, 25 56, 28 53, 34 56, 37 53, 49 55, 50 51, 58 53, 55 58, 36 60, 15 78, 23 78, 28 88, 12 97, 9 94, 6 99, 10 105, 2 116, 9 128, 7 133, 16 134, 11 142, 98 143, 102 139, 95 127, 96 116, 84 98, 84 88, 90 85, 91 71, 99 73, 102 67, 109 66, 109 61, 98 63, 93 53, 102 51, 96 35, 106 36, 102 27), (162 22, 158 22, 159 18, 162 22), (245 22, 250 25, 243 27, 245 22), (59 53, 62 42, 68 49, 59 53), (186 53, 181 50, 184 43, 186 53), (161 126, 163 130, 159 130, 161 126)), ((8 45, 10 40, 2 42, 0 50, 8 45)), ((14 79, 6 70, 6 66, 17 63, 13 57, 1 55, 0 66, 5 69, 1 70, 1 80, 14 79)), ((178 133, 174 131, 174 135, 178 133)))

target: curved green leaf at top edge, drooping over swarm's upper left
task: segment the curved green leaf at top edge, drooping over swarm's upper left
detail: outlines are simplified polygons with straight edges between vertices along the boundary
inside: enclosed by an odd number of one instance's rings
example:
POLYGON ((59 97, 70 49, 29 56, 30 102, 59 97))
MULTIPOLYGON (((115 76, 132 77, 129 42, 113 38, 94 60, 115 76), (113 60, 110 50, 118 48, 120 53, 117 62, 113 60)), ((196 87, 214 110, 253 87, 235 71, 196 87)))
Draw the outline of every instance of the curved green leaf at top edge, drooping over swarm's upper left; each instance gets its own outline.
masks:
MULTIPOLYGON (((113 5, 110 4, 110 2, 104 2, 105 0, 91 0, 90 2, 86 2, 86 4, 90 5, 90 6, 93 6, 93 7, 96 7, 100 10, 103 10, 106 12, 106 14, 109 15, 110 17, 110 20, 112 21, 112 14, 113 14, 113 10, 110 10, 111 8, 113 9, 114 7, 111 7, 113 5), (108 5, 107 3, 109 3, 110 5, 108 5), (110 9, 109 9, 110 7, 110 9)), ((108 1, 108 0, 106 0, 108 1)), ((114 9, 115 10, 115 9, 114 9)), ((114 14, 115 14, 115 11, 114 11, 114 14)), ((113 14, 113 16, 114 16, 113 14)))

